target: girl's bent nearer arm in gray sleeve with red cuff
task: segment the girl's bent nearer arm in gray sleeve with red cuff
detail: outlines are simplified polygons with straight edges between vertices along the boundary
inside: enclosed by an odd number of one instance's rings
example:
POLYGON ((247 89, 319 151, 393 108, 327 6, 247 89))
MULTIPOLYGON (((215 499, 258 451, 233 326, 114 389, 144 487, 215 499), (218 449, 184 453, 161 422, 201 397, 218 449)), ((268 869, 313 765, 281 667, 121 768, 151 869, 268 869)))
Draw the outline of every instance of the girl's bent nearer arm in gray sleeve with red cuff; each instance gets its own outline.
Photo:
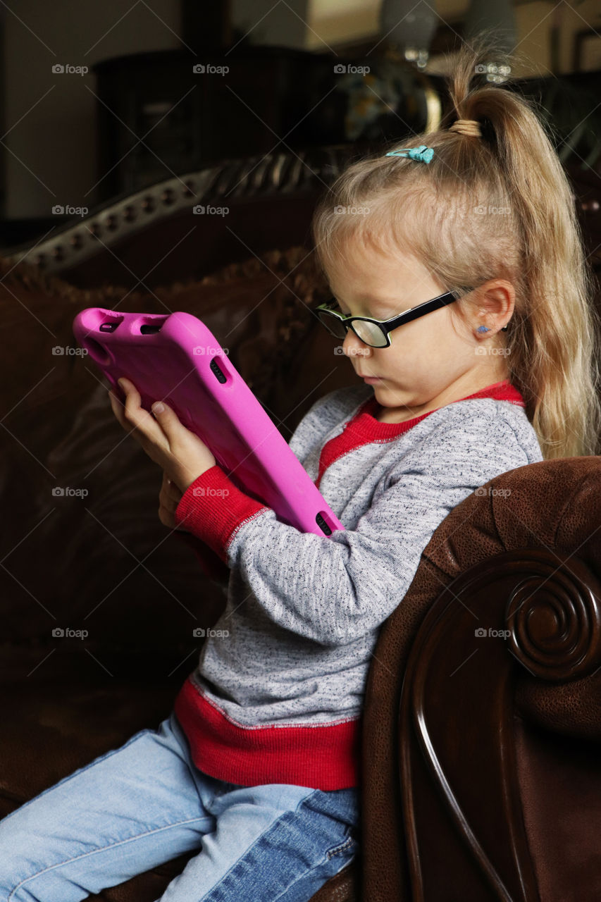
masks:
POLYGON ((218 466, 183 493, 175 519, 239 568, 273 621, 324 645, 354 641, 402 601, 448 513, 496 475, 529 463, 496 408, 448 405, 446 413, 403 453, 352 529, 331 537, 300 532, 240 492, 218 466), (194 491, 208 486, 221 491, 194 491))

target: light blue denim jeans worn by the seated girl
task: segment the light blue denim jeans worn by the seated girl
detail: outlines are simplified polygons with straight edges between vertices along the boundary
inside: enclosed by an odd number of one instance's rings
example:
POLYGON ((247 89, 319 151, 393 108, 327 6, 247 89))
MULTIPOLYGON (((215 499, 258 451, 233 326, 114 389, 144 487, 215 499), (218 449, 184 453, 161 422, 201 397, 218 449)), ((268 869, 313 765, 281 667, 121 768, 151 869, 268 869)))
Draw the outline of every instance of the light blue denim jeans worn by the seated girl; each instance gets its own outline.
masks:
POLYGON ((197 851, 162 902, 306 902, 356 854, 357 798, 208 777, 171 712, 0 821, 0 900, 76 902, 197 851))

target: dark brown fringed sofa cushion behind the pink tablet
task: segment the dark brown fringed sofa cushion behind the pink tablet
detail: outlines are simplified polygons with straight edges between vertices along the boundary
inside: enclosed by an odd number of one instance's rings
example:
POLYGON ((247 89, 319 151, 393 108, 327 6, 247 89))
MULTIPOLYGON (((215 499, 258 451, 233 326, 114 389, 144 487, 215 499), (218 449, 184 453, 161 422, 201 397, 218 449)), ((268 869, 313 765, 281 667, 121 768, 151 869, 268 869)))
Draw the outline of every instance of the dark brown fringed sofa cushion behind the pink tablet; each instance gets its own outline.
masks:
MULTIPOLYGON (((57 651, 30 678, 59 675, 60 656, 82 642, 97 667, 124 676, 159 662, 167 674, 190 655, 191 668, 191 630, 217 620, 223 590, 159 520, 161 470, 117 423, 106 380, 76 353, 72 321, 92 306, 199 316, 289 440, 314 400, 356 380, 310 313, 328 294, 312 258, 304 248, 273 251, 153 292, 79 290, 2 258, 0 275, 10 518, 0 580, 5 641, 22 653, 17 671, 57 651)), ((3 666, 0 681, 13 676, 3 666)))

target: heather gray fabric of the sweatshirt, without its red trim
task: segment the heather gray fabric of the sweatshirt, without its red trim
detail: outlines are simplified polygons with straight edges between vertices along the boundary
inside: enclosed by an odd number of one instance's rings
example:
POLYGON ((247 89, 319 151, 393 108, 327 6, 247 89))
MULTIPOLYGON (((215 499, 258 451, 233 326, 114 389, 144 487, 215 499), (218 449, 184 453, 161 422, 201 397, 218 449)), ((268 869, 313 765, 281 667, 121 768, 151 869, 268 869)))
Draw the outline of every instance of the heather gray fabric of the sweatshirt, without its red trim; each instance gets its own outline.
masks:
MULTIPOLYGON (((290 446, 314 481, 322 447, 372 393, 330 391, 301 420, 290 446)), ((237 529, 215 624, 229 636, 208 637, 192 682, 248 726, 357 717, 378 630, 441 520, 496 475, 541 460, 523 408, 490 398, 448 404, 339 457, 319 490, 344 531, 301 533, 271 510, 237 529)))

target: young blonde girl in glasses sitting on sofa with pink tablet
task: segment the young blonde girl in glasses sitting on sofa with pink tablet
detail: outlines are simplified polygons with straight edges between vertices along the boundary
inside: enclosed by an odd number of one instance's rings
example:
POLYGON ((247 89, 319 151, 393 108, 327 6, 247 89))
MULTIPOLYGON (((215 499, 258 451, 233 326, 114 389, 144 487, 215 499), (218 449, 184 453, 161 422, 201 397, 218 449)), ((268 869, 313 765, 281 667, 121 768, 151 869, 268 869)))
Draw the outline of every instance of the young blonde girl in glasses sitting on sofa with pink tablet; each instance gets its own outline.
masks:
POLYGON ((359 850, 365 678, 432 533, 498 474, 596 453, 569 184, 532 106, 470 90, 488 59, 465 48, 446 123, 353 163, 315 213, 336 299, 319 316, 364 383, 290 445, 345 530, 282 523, 168 406, 153 418, 126 380, 125 410, 111 397, 165 474, 163 522, 230 568, 227 632, 158 729, 0 822, 3 899, 76 902, 184 852, 162 900, 310 899, 359 850))

